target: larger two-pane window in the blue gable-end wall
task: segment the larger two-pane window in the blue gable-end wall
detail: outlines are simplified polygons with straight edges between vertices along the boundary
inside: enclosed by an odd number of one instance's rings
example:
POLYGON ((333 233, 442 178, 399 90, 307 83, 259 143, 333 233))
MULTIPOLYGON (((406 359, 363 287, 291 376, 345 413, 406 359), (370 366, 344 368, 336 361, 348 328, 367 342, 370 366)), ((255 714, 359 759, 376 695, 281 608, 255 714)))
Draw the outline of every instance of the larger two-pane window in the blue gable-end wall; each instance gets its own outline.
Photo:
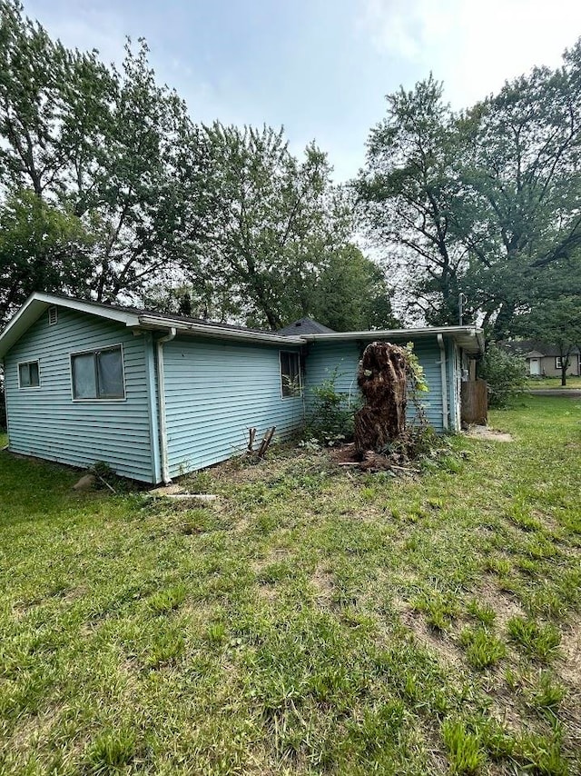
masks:
POLYGON ((121 345, 71 355, 74 399, 124 399, 121 345))

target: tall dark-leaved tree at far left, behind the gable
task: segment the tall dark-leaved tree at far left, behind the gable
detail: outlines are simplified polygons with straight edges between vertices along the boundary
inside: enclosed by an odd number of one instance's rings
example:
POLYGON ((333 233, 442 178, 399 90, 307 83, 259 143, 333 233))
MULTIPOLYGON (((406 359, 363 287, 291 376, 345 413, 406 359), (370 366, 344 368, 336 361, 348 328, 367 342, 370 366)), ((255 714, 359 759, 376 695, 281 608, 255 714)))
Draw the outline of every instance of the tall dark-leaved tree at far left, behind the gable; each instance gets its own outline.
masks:
POLYGON ((93 235, 91 282, 75 293, 137 293, 182 257, 183 225, 191 233, 198 223, 185 195, 200 183, 197 136, 178 96, 156 85, 143 43, 137 53, 128 43, 121 70, 107 68, 95 52, 51 40, 16 0, 1 0, 4 194, 30 189, 93 235))

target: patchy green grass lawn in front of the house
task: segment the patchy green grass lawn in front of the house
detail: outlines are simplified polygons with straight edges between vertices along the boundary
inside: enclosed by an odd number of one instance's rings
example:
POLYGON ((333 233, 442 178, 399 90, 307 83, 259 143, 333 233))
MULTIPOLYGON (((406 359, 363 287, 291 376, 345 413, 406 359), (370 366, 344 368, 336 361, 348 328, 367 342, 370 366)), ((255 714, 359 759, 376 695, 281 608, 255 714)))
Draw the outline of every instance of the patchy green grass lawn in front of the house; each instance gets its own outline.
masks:
POLYGON ((191 510, 0 453, 0 771, 578 772, 581 406, 491 421, 417 480, 281 450, 191 510))

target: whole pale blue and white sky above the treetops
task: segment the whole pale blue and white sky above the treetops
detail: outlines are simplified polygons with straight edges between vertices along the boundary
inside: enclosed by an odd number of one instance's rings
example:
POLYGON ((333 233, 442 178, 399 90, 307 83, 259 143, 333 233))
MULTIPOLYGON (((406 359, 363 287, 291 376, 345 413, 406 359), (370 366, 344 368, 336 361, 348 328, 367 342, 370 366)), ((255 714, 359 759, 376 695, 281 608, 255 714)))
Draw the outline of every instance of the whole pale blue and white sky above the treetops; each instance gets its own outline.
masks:
POLYGON ((363 164, 384 96, 431 70, 456 108, 581 36, 581 0, 25 0, 65 45, 120 61, 143 36, 160 81, 198 121, 284 125, 337 180, 363 164))

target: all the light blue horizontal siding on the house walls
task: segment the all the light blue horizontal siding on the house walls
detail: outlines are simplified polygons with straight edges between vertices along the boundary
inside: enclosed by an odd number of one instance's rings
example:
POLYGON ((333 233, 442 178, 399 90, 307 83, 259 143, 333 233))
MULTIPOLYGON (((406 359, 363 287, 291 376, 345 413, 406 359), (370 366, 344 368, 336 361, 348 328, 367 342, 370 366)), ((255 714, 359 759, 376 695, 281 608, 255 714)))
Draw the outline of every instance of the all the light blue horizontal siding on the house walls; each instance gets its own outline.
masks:
MULTIPOLYGON (((10 449, 86 467, 104 461, 123 476, 148 483, 162 479, 155 340, 161 333, 135 336, 123 323, 58 307, 49 325, 46 311, 5 356, 5 387, 10 449), (121 344, 126 396, 123 400, 75 402, 71 353, 121 344), (38 361, 40 387, 18 386, 18 363, 38 361)), ((413 337, 410 336, 410 339, 413 337)), ((219 463, 256 442, 271 426, 285 437, 309 418, 313 388, 336 373, 346 401, 359 400, 357 368, 365 343, 317 342, 305 345, 304 395, 282 398, 280 352, 296 345, 239 343, 178 336, 163 345, 165 416, 170 476, 219 463), (306 408, 306 409, 305 409, 306 408)), ((420 394, 428 422, 442 421, 440 350, 436 334, 418 339, 415 351, 430 387, 420 394)), ((448 415, 458 428, 458 349, 446 342, 448 415)), ((413 407, 409 407, 410 417, 413 407)))

